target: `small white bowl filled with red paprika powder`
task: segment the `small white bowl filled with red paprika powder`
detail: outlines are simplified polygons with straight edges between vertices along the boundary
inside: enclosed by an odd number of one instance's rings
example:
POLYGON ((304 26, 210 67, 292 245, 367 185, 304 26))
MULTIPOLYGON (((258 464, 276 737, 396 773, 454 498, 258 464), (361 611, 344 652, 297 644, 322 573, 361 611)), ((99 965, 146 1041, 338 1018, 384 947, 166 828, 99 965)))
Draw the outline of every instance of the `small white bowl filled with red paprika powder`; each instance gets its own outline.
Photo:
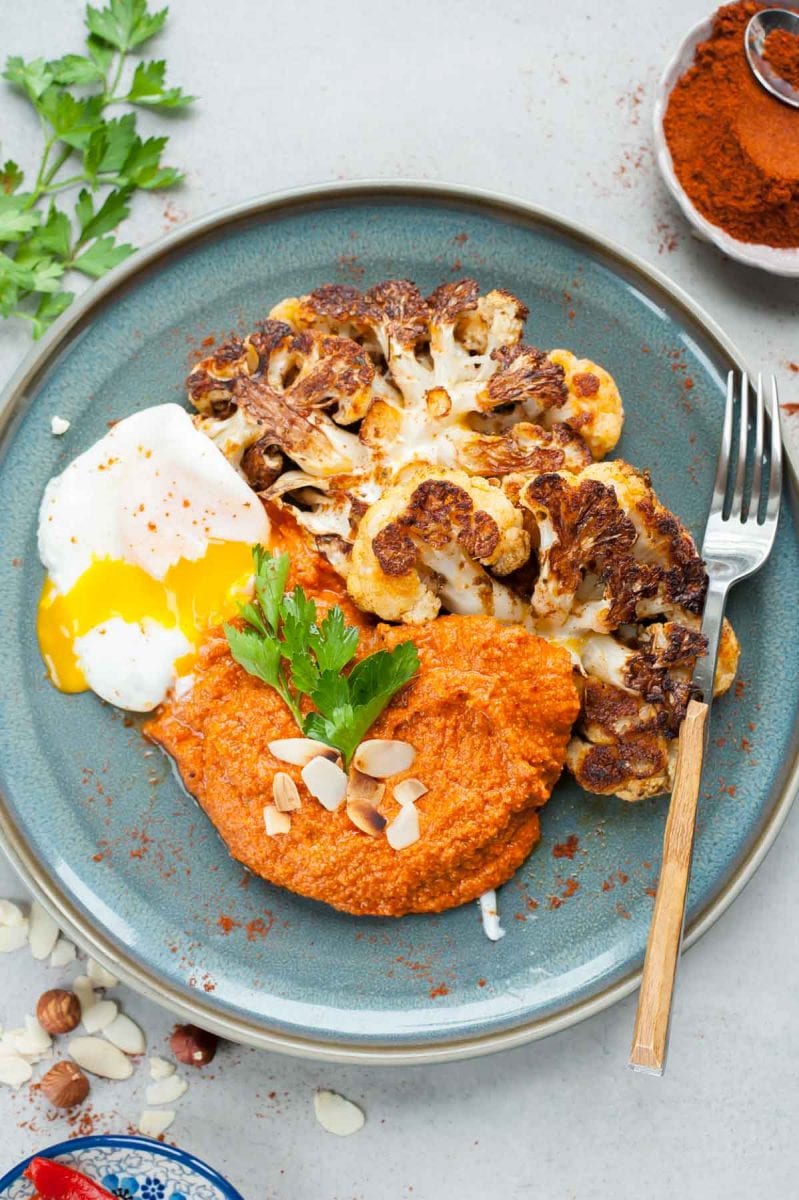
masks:
POLYGON ((769 96, 746 62, 744 30, 761 7, 727 5, 686 35, 655 96, 655 154, 699 238, 799 277, 799 109, 769 96))

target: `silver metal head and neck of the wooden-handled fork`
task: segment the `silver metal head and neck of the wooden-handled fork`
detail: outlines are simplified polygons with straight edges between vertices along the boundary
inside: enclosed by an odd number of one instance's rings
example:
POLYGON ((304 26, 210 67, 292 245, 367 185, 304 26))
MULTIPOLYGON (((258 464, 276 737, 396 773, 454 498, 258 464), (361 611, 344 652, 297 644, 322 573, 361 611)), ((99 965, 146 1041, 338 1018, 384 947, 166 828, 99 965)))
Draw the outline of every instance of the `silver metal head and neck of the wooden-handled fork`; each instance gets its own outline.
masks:
POLYGON ((733 583, 759 570, 769 557, 780 517, 782 438, 776 379, 771 376, 768 406, 771 436, 768 449, 762 376, 757 377, 753 420, 750 420, 749 394, 746 373, 741 376, 740 388, 737 389, 735 374, 731 371, 727 377, 721 450, 702 544, 702 557, 708 570, 708 598, 702 632, 708 638, 708 653, 697 662, 693 685, 705 701, 710 700, 713 692, 727 592, 733 583), (738 445, 733 451, 735 416, 738 445))

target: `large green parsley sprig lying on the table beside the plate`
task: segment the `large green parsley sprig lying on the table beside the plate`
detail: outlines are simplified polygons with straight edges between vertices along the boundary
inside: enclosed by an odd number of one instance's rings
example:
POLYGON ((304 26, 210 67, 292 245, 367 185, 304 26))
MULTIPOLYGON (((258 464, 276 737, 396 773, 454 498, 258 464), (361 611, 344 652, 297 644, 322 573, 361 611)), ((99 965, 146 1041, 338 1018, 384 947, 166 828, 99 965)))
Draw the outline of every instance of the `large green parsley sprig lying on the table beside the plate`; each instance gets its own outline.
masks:
POLYGON ((85 54, 6 60, 2 77, 34 106, 43 145, 28 188, 13 160, 0 166, 0 317, 30 322, 34 337, 74 299, 64 287, 67 272, 98 278, 133 252, 112 234, 131 196, 182 179, 161 164, 167 138, 139 137, 136 112, 113 114, 120 104, 172 112, 194 98, 166 86, 163 60, 126 70, 130 55, 163 29, 167 12, 150 12, 146 0, 88 5, 85 54), (71 212, 59 208, 56 197, 78 187, 71 212))

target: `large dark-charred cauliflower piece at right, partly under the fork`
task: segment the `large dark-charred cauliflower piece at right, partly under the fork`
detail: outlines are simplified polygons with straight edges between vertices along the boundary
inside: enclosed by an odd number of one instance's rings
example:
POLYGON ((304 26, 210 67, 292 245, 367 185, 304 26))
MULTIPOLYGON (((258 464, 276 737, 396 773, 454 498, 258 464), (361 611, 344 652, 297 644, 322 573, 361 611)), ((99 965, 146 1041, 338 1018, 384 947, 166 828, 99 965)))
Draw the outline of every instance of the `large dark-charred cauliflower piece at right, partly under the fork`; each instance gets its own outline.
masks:
MULTIPOLYGON (((534 523, 533 628, 565 646, 581 676, 569 768, 588 791, 627 800, 667 791, 705 653, 707 583, 693 539, 648 478, 621 461, 509 476, 504 490, 534 523)), ((716 694, 737 662, 725 623, 716 694)))

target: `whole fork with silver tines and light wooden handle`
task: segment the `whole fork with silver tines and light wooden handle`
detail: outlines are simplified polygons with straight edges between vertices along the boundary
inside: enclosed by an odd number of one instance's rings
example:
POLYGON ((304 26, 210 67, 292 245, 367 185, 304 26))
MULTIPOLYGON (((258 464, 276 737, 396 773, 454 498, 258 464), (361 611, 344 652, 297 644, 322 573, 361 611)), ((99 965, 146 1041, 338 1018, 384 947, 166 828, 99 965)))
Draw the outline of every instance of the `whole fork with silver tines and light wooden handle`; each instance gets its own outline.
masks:
POLYGON ((685 898, 691 874, 702 760, 710 730, 709 709, 727 593, 765 563, 774 546, 782 494, 782 440, 776 379, 771 376, 770 448, 764 445, 763 378, 757 377, 755 418, 750 424, 750 384, 743 374, 735 403, 735 373, 727 377, 721 450, 702 542, 708 593, 702 617, 707 653, 697 661, 692 696, 680 726, 674 785, 666 818, 663 858, 649 928, 638 1008, 630 1050, 633 1070, 662 1075, 668 1028, 683 944, 685 898), (738 408, 738 450, 733 425, 738 408), (752 428, 753 426, 753 428, 752 428), (753 434, 753 436, 752 436, 753 434))

